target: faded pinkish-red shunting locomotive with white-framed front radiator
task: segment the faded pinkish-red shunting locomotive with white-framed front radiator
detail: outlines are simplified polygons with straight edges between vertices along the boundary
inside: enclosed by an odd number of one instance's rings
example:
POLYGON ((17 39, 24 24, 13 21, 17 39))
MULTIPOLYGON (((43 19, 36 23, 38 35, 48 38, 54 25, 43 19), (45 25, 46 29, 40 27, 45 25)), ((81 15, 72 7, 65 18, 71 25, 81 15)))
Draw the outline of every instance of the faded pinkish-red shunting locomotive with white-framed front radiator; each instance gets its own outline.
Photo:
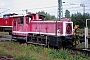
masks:
POLYGON ((13 17, 12 39, 39 45, 73 46, 73 22, 68 18, 46 21, 40 14, 13 17))

